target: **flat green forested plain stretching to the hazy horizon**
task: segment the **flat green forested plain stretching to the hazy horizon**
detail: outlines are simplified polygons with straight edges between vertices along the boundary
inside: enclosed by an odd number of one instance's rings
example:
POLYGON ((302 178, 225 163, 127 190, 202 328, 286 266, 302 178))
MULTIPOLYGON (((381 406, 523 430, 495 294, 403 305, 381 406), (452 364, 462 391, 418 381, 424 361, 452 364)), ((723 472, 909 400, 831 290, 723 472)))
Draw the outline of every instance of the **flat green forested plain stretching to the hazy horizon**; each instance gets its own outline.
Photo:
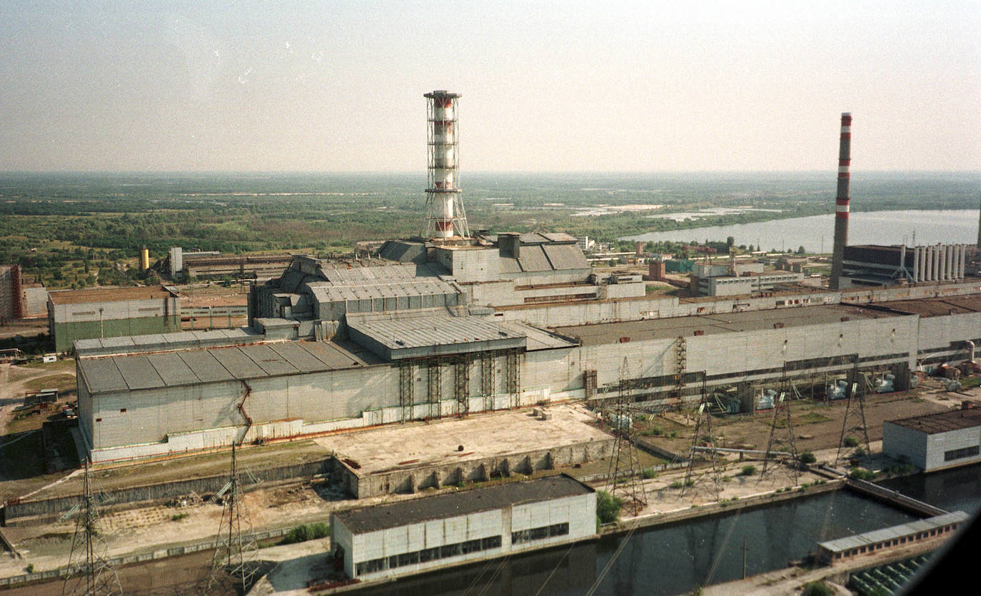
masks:
MULTIPOLYGON (((470 174, 472 229, 563 231, 614 246, 622 235, 831 213, 834 174, 470 174), (577 216, 597 206, 656 210, 577 216), (676 222, 655 214, 743 211, 676 222)), ((129 284, 137 251, 349 252, 358 240, 423 231, 417 174, 0 174, 0 263, 49 287, 129 284)), ((856 175, 852 210, 976 209, 978 174, 856 175)), ((151 274, 152 276, 152 274, 151 274)), ((146 277, 143 275, 142 277, 146 277)))

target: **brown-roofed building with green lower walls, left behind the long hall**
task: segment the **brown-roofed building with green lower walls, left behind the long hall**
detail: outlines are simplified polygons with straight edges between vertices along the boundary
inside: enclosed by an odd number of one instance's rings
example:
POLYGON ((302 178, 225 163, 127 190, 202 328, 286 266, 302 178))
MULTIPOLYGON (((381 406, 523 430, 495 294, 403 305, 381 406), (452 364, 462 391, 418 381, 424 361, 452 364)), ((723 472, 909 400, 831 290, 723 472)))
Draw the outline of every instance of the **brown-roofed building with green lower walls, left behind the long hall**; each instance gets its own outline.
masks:
POLYGON ((57 352, 70 351, 78 339, 181 330, 181 298, 165 286, 56 290, 47 307, 57 352))

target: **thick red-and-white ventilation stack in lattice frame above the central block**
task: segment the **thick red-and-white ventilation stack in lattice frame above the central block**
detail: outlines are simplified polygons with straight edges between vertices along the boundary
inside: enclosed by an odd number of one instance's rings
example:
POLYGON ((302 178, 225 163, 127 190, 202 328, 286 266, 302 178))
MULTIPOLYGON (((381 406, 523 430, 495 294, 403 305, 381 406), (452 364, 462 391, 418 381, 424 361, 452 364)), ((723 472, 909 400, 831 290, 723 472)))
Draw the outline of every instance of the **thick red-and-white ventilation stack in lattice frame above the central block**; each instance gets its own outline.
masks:
POLYGON ((459 93, 426 93, 429 120, 429 187, 426 189, 426 237, 470 237, 459 188, 460 139, 456 126, 459 93))

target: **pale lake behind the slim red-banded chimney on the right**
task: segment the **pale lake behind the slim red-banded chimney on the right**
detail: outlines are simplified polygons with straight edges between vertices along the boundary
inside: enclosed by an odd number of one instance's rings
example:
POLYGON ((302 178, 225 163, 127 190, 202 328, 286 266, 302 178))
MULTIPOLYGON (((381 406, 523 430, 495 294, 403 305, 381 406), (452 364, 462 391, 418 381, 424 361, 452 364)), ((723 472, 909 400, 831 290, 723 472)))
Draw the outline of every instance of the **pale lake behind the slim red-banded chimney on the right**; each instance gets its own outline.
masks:
MULTIPOLYGON (((733 236, 736 245, 752 244, 762 250, 830 253, 834 241, 835 219, 831 214, 791 218, 754 224, 712 225, 670 231, 652 231, 623 240, 725 242, 733 236)), ((974 244, 978 237, 977 210, 946 211, 864 211, 852 212, 849 244, 974 244)))

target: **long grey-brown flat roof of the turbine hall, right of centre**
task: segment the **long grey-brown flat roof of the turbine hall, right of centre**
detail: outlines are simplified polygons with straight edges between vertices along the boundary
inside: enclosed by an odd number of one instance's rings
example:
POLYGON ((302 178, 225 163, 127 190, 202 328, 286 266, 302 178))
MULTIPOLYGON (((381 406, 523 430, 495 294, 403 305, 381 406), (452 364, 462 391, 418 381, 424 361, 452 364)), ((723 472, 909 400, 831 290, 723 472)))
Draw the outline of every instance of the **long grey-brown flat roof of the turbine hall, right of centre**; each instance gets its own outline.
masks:
POLYGON ((900 316, 899 313, 869 310, 848 305, 807 306, 792 309, 745 311, 717 315, 693 315, 670 319, 647 319, 622 323, 594 323, 553 327, 570 337, 577 337, 583 345, 614 343, 622 337, 633 341, 667 339, 679 335, 730 333, 757 329, 772 329, 777 324, 786 327, 822 323, 840 323, 861 319, 882 319, 900 316))

